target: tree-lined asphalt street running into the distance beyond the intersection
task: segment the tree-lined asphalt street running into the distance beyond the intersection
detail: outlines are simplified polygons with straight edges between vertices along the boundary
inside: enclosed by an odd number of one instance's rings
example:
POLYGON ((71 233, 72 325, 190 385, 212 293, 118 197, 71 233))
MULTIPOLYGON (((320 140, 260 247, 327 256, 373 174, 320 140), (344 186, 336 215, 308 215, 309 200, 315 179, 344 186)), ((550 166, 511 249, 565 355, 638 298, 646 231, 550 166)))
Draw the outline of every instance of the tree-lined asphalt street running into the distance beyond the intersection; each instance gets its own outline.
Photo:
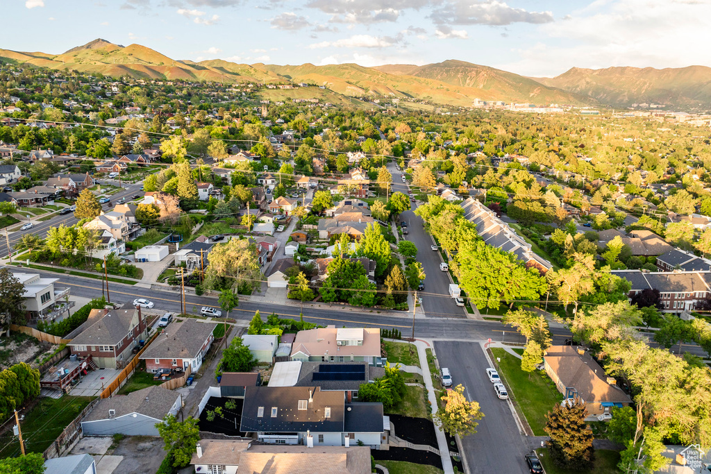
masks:
MULTIPOLYGON (((392 174, 392 192, 400 191, 407 194, 408 186, 402 183, 402 172, 397 171, 395 163, 387 165, 390 174, 392 174)), ((416 203, 412 204, 412 210, 417 209, 416 203)), ((415 215, 412 210, 407 210, 402 213, 400 220, 407 222, 408 235, 403 235, 405 239, 417 245, 417 262, 422 264, 424 274, 427 275, 424 279, 424 291, 418 292, 417 297, 422 298, 422 308, 427 316, 437 318, 464 318, 465 313, 461 306, 456 306, 454 300, 449 296, 449 276, 447 272, 439 269, 439 264, 442 263, 442 258, 439 257, 439 252, 434 252, 431 245, 434 243, 432 237, 427 232, 424 232, 422 218, 415 215)))

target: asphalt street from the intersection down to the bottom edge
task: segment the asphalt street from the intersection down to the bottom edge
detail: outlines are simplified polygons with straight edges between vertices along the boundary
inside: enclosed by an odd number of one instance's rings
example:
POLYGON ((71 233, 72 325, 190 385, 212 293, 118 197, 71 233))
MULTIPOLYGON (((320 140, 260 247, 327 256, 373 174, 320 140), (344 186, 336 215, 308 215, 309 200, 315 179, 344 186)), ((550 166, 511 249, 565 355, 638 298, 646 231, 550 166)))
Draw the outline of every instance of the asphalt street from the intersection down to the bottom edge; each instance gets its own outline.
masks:
POLYGON ((479 343, 437 341, 434 350, 440 367, 449 367, 454 384, 464 385, 466 397, 479 402, 484 414, 476 433, 461 438, 471 473, 525 474, 528 439, 518 431, 508 402, 496 397, 479 343))

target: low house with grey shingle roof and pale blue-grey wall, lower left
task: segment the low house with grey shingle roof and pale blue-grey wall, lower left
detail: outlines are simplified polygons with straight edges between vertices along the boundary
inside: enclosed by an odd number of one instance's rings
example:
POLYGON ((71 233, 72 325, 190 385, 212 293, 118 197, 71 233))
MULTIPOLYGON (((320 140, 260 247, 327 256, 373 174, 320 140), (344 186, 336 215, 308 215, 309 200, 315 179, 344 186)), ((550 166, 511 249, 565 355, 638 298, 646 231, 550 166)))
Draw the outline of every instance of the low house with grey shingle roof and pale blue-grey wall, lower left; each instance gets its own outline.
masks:
POLYGON ((156 424, 183 408, 181 395, 155 385, 101 399, 82 420, 84 436, 159 436, 156 424))

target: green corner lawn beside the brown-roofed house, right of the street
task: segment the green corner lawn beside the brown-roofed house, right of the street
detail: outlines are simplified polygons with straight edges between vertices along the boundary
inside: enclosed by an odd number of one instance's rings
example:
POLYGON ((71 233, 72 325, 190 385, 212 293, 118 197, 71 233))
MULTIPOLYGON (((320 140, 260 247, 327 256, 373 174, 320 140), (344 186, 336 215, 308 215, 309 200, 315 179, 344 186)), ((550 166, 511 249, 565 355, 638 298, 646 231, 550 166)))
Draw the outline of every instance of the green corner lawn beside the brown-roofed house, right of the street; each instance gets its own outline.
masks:
POLYGON ((492 348, 491 352, 498 362, 498 372, 508 387, 508 395, 519 413, 523 412, 528 425, 535 436, 545 436, 545 414, 562 400, 562 394, 555 389, 553 382, 540 372, 521 370, 521 360, 501 348, 492 348))

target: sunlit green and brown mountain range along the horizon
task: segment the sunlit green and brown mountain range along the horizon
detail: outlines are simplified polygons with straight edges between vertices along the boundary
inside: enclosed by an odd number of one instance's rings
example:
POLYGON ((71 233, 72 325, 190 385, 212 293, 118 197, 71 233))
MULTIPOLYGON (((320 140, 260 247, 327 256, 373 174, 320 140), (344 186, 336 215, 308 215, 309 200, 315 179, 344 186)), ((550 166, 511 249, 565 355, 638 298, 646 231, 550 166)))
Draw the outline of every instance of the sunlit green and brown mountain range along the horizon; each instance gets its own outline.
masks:
POLYGON ((0 62, 68 68, 111 77, 267 84, 306 82, 325 85, 332 94, 346 97, 415 98, 457 107, 468 107, 474 99, 481 99, 611 107, 654 103, 711 109, 711 68, 704 66, 661 70, 572 68, 556 77, 525 77, 460 60, 375 68, 357 64, 248 65, 219 59, 173 60, 143 45, 122 46, 101 38, 60 55, 0 49, 0 62))

